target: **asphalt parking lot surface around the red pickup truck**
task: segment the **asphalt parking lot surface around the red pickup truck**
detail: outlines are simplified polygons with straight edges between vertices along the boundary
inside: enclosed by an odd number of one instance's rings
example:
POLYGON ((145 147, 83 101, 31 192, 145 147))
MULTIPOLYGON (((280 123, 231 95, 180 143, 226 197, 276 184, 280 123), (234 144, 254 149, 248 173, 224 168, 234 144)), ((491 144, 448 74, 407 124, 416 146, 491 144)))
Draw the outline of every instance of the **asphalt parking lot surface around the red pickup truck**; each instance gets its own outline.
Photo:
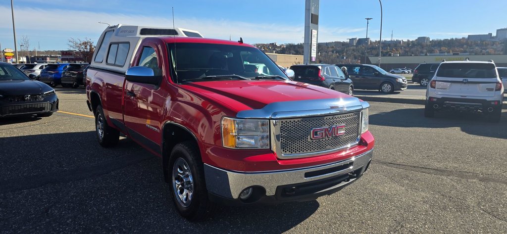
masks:
POLYGON ((491 232, 507 227, 507 110, 480 115, 370 102, 374 160, 316 201, 221 207, 199 223, 166 201, 161 160, 129 139, 95 140, 83 89, 57 88, 49 118, 0 120, 0 232, 491 232))

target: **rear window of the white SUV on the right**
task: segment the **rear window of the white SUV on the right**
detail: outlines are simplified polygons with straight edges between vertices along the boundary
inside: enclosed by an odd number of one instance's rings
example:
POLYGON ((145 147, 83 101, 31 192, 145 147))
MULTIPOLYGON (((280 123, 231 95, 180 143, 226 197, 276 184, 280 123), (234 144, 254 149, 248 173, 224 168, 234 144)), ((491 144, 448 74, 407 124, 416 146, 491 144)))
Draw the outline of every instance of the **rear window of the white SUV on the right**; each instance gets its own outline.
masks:
POLYGON ((495 65, 491 63, 442 63, 437 76, 451 78, 495 78, 495 65))

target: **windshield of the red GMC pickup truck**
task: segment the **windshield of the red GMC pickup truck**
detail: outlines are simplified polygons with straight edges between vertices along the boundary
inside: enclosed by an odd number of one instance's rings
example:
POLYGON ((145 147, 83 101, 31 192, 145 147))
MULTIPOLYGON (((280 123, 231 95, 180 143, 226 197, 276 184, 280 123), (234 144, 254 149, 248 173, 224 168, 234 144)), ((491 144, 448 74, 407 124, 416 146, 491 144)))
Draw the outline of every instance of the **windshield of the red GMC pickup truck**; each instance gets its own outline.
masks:
POLYGON ((230 80, 265 76, 268 79, 266 76, 272 75, 287 79, 257 48, 204 43, 168 43, 167 46, 175 83, 209 81, 205 77, 230 80))

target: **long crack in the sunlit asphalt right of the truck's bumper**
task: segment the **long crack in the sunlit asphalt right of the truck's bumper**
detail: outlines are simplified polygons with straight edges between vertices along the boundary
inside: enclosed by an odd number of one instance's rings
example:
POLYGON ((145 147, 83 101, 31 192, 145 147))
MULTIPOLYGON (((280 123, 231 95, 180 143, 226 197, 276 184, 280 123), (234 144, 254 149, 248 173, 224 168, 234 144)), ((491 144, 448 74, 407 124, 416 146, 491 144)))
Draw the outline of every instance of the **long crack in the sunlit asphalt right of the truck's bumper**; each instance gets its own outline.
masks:
POLYGON ((462 172, 462 171, 451 171, 451 170, 445 170, 445 169, 434 169, 434 168, 427 168, 427 167, 419 167, 419 166, 412 166, 412 165, 405 165, 405 164, 397 164, 397 163, 389 163, 389 162, 383 162, 379 160, 372 160, 373 163, 381 164, 386 167, 392 167, 392 168, 398 168, 402 170, 407 171, 415 171, 430 175, 438 175, 438 176, 451 176, 456 177, 460 179, 469 179, 469 180, 479 180, 481 182, 487 182, 487 183, 500 183, 500 184, 507 184, 507 180, 501 179, 501 178, 495 178, 491 176, 497 176, 493 174, 479 174, 479 173, 473 173, 473 172, 462 172))

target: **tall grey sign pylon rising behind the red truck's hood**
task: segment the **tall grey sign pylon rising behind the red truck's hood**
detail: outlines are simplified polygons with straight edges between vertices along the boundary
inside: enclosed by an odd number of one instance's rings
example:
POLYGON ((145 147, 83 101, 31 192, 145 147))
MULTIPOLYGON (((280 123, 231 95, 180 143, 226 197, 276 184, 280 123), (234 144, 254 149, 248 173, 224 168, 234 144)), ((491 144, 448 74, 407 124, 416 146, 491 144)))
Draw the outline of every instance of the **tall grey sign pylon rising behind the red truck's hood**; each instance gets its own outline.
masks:
POLYGON ((304 64, 317 61, 318 9, 319 0, 305 0, 304 64))

